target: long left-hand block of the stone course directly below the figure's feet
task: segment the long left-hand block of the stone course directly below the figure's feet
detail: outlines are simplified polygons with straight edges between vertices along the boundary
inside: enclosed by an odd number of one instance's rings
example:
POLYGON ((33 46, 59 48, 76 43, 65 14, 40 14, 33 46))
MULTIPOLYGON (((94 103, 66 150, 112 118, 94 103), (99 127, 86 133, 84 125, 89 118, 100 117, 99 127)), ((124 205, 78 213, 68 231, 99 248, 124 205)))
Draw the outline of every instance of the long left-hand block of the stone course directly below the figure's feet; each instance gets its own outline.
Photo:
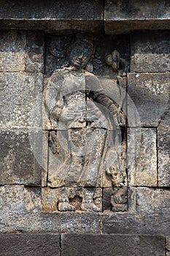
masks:
POLYGON ((101 233, 101 216, 91 213, 1 212, 1 233, 101 233))

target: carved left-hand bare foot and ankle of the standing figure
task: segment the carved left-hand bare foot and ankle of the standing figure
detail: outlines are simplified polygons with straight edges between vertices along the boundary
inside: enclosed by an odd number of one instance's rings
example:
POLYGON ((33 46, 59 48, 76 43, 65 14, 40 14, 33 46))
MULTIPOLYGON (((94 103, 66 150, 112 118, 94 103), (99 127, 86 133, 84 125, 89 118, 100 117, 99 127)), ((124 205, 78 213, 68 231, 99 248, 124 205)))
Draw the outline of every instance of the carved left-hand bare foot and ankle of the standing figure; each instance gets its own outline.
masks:
POLYGON ((58 200, 58 211, 75 211, 75 207, 69 204, 69 194, 66 187, 61 189, 61 196, 58 200))

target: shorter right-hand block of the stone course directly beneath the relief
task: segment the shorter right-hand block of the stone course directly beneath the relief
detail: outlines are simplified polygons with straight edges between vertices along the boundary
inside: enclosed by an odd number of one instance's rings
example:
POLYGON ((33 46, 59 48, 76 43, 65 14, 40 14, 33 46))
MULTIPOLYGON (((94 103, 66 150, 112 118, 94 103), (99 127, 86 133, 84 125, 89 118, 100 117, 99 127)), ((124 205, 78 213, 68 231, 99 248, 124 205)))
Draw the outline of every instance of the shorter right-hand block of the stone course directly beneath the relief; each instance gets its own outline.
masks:
POLYGON ((115 234, 146 234, 170 236, 169 213, 104 214, 103 232, 115 234))

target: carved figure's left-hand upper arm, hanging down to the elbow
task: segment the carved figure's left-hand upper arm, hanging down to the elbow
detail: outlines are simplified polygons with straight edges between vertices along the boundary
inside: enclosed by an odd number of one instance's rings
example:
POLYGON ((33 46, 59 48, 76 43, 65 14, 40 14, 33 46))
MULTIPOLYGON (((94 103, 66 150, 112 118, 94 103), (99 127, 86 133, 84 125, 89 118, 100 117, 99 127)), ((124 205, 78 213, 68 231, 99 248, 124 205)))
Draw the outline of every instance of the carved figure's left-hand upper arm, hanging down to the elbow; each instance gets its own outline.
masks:
POLYGON ((50 119, 58 120, 63 108, 63 97, 61 95, 61 85, 63 78, 59 72, 53 72, 47 89, 45 91, 45 107, 50 119))

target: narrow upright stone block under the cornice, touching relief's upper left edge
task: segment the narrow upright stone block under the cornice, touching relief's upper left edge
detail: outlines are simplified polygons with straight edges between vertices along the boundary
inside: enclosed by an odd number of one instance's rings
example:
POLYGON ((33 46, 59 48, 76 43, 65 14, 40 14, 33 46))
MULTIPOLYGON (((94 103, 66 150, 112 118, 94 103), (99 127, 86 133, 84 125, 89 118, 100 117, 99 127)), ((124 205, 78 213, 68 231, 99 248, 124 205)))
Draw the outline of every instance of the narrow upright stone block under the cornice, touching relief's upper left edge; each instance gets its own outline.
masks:
POLYGON ((27 32, 26 72, 44 72, 44 43, 43 32, 27 32))

